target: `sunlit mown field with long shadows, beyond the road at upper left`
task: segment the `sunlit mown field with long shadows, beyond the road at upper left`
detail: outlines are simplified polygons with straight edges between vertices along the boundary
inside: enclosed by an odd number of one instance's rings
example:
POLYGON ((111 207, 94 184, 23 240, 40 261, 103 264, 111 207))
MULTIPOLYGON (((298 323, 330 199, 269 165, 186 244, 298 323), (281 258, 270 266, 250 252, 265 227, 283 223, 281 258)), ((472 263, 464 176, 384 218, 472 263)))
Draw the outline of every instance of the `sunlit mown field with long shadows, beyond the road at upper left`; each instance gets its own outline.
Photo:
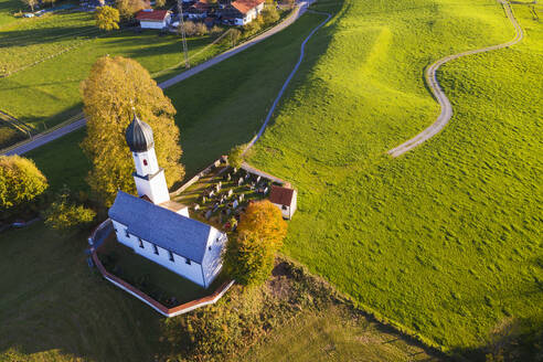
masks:
MULTIPOLYGON (((188 39, 192 64, 226 49, 219 44, 205 47, 215 38, 188 39)), ((38 131, 77 115, 82 110, 79 84, 94 62, 105 55, 135 58, 151 74, 161 72, 159 81, 183 71, 177 66, 183 54, 181 38, 175 34, 106 33, 96 28, 93 13, 85 12, 20 19, 0 28, 0 73, 13 72, 0 78, 0 110, 38 131)))

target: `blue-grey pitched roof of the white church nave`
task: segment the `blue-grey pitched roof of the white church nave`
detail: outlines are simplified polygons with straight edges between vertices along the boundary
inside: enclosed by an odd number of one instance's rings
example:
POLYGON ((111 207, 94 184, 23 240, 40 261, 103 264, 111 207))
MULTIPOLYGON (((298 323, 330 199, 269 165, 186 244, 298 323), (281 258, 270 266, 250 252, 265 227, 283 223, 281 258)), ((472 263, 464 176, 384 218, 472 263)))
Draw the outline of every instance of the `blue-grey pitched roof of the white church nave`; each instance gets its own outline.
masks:
POLYGON ((202 264, 212 226, 123 191, 108 214, 127 225, 128 233, 202 264))

